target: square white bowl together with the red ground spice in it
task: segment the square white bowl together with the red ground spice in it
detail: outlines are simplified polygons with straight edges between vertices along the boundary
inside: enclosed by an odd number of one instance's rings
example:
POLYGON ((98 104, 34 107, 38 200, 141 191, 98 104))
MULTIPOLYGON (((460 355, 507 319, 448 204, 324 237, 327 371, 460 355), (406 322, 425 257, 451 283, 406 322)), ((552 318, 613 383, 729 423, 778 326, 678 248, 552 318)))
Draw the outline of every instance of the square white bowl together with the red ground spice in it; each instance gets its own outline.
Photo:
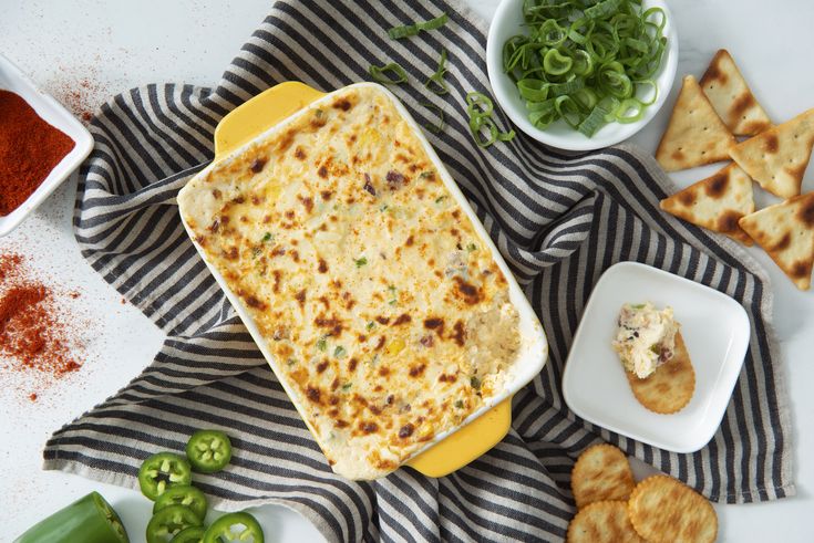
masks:
POLYGON ((82 123, 0 54, 0 236, 37 209, 92 148, 82 123))

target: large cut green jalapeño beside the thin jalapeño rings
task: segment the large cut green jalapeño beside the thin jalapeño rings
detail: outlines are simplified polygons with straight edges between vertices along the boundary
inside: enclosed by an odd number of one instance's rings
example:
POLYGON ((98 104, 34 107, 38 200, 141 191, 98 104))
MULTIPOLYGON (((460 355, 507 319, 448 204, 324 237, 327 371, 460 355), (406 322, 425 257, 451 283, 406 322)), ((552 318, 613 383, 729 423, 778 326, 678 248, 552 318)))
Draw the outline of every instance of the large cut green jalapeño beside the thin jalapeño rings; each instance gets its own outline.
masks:
POLYGON ((130 543, 124 524, 99 492, 91 492, 31 526, 14 543, 130 543))

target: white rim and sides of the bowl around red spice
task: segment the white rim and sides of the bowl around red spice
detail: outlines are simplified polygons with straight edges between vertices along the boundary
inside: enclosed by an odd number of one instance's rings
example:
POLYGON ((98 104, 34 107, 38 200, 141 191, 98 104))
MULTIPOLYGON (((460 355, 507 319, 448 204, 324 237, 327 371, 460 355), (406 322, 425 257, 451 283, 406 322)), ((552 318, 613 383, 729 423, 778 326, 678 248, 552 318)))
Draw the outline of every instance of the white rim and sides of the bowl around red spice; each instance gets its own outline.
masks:
POLYGON ((0 88, 19 94, 34 108, 40 117, 64 132, 76 144, 71 153, 65 155, 19 208, 4 217, 0 216, 0 236, 6 236, 17 228, 82 164, 82 160, 87 157, 93 148, 93 137, 62 104, 38 90, 33 82, 2 54, 0 54, 0 88))

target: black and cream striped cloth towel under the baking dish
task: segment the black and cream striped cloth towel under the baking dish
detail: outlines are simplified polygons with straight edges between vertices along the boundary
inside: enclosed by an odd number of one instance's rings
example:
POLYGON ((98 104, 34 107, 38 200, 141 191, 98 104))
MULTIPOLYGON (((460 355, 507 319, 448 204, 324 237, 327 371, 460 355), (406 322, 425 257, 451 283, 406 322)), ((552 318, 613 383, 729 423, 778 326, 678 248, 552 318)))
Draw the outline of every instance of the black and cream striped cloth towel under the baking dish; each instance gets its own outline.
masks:
MULTIPOLYGON (((59 430, 45 469, 136 487, 150 453, 182 450, 200 427, 228 428, 230 467, 199 479, 216 507, 281 503, 330 541, 558 541, 574 514, 574 459, 600 439, 728 503, 792 494, 790 421, 767 319, 765 275, 728 240, 666 217, 669 181, 639 150, 620 146, 563 156, 518 135, 486 150, 468 135, 464 96, 488 92, 486 24, 443 0, 277 1, 214 90, 150 85, 116 96, 93 122, 74 217, 83 254, 167 334, 126 388, 59 430), (437 31, 392 41, 387 29, 440 12, 437 31), (450 53, 451 93, 421 86, 450 53), (430 140, 526 289, 550 341, 550 362, 514 399, 514 427, 492 451, 442 479, 401 469, 377 482, 332 474, 305 424, 187 239, 174 203, 213 156, 213 132, 231 108, 275 83, 330 91, 395 61, 411 84, 394 87, 420 123, 443 107, 430 140), (676 455, 578 419, 560 378, 593 285, 624 260, 711 285, 741 302, 752 336, 745 365, 712 441, 676 455)), ((508 126, 497 114, 498 123, 508 126)))

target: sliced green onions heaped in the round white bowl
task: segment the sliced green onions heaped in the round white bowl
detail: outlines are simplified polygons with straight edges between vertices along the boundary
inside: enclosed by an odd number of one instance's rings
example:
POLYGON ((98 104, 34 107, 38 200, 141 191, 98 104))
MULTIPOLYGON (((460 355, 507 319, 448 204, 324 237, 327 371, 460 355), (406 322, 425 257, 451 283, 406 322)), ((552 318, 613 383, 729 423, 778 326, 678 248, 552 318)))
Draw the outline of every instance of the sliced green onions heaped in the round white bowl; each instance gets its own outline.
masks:
MULTIPOLYGON (((522 9, 524 33, 503 44, 503 70, 535 127, 563 119, 591 137, 607 123, 645 116, 658 96, 653 76, 667 46, 661 8, 645 9, 640 0, 526 0, 522 9)), ((476 125, 482 135, 491 132, 488 123, 476 125)))

